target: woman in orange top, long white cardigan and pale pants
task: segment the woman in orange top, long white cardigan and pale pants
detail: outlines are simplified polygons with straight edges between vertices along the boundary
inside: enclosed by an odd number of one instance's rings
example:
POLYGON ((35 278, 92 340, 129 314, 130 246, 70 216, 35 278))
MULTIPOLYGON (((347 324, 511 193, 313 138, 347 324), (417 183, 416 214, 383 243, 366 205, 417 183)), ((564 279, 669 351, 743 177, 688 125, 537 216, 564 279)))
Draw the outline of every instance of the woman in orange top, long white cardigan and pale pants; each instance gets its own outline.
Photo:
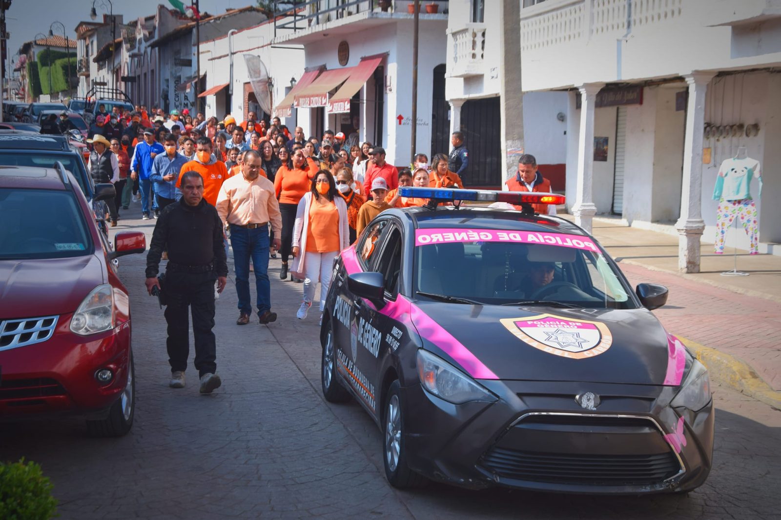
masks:
POLYGON ((347 205, 337 193, 333 176, 321 169, 312 178, 308 193, 298 202, 293 228, 291 271, 304 279, 304 301, 296 317, 305 319, 320 282, 320 322, 333 272, 333 259, 350 245, 347 205))

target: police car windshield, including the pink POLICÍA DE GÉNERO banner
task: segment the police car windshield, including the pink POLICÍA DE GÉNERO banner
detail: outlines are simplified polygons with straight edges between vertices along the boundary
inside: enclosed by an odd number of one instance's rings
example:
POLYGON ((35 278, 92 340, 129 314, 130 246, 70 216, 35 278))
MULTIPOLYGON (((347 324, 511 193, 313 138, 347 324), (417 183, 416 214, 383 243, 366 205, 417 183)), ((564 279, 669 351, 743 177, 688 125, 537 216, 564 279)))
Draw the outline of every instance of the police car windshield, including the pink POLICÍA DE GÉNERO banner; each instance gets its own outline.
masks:
POLYGON ((636 308, 597 245, 562 233, 416 230, 415 291, 484 305, 636 308))

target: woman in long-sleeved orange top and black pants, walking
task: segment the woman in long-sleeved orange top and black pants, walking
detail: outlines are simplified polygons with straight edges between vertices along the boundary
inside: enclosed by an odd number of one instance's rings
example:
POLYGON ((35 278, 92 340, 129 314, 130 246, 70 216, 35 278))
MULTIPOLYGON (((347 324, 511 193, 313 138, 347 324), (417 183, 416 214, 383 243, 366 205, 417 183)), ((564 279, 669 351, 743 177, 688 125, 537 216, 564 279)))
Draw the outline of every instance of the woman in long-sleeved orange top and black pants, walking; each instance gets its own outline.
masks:
POLYGON ((295 226, 295 214, 298 210, 298 202, 311 188, 312 176, 316 170, 309 167, 309 163, 301 150, 296 150, 291 158, 291 165, 282 165, 276 170, 274 177, 274 191, 280 201, 282 213, 282 269, 280 280, 287 279, 287 258, 290 258, 293 247, 293 227, 295 226), (291 167, 292 166, 292 167, 291 167))

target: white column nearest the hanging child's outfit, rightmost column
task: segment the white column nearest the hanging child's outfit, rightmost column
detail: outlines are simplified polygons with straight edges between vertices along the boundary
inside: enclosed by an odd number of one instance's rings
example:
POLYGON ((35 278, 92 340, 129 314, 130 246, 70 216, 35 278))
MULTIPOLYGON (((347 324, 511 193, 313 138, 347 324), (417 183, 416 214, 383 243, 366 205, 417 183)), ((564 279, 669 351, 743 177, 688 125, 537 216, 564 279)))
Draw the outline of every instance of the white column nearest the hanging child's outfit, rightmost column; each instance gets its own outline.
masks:
POLYGON ((685 77, 689 85, 686 106, 686 137, 683 143, 683 183, 678 230, 678 269, 700 272, 700 237, 705 229, 702 219, 702 138, 705 122, 705 92, 712 73, 691 73, 685 77))

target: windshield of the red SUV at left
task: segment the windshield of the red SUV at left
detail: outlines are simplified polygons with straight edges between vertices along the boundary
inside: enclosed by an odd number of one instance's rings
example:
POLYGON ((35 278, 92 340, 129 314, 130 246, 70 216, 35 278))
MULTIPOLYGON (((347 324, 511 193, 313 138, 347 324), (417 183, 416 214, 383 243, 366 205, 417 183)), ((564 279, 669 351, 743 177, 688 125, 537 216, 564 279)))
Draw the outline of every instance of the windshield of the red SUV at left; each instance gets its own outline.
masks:
POLYGON ((0 260, 91 254, 87 226, 69 191, 0 188, 0 222, 0 260))

